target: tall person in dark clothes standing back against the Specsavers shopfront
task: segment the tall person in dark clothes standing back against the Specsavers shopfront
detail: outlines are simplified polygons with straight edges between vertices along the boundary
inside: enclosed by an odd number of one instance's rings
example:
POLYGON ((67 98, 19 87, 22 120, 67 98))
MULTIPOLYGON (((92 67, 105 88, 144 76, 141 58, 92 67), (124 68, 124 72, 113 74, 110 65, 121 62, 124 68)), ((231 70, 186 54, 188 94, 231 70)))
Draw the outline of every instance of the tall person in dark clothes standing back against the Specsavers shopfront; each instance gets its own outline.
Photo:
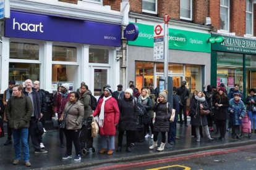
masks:
POLYGON ((182 114, 184 116, 184 123, 185 126, 187 127, 187 99, 189 99, 189 89, 186 88, 186 81, 181 82, 181 87, 178 87, 177 89, 177 95, 181 97, 181 105, 179 108, 179 123, 180 126, 183 125, 183 120, 182 120, 182 114))

